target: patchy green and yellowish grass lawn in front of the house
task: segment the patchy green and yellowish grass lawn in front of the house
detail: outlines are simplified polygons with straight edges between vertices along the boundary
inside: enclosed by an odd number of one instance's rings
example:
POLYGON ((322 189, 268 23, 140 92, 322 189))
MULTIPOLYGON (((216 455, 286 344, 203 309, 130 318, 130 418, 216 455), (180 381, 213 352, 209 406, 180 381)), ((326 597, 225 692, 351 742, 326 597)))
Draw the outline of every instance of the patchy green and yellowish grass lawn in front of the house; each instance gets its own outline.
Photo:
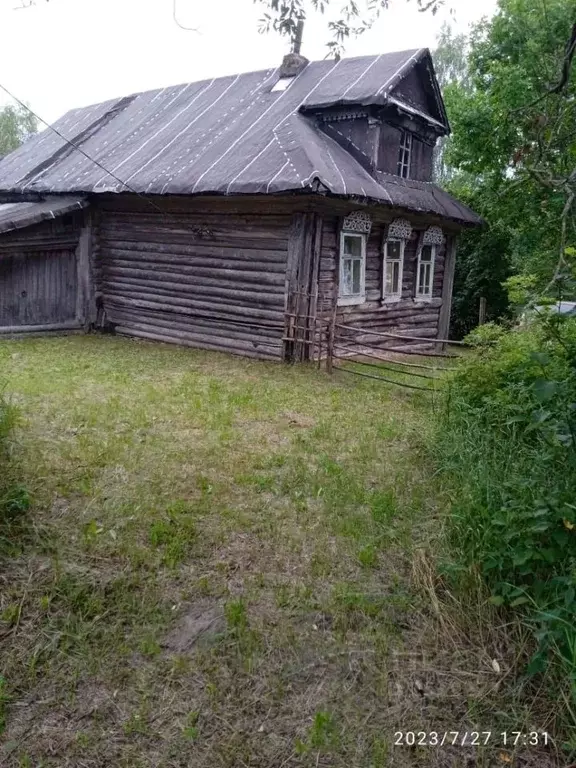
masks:
POLYGON ((1 342, 0 380, 32 497, 0 764, 506 764, 394 745, 501 730, 474 718, 507 651, 435 598, 427 395, 103 336, 1 342))

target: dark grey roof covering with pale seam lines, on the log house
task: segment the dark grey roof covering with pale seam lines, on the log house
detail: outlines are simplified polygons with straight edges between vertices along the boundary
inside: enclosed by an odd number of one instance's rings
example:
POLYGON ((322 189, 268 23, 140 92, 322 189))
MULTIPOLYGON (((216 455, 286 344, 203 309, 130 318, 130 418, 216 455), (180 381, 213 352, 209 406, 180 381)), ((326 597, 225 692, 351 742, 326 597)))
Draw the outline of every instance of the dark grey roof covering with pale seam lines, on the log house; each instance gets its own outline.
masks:
MULTIPOLYGON (((311 62, 283 91, 272 91, 278 70, 269 69, 72 110, 54 125, 67 141, 48 129, 0 161, 0 193, 313 190, 393 205, 387 182, 370 175, 303 110, 384 104, 425 57, 421 49, 311 62)), ((440 213, 431 194, 404 199, 408 209, 440 213)), ((478 221, 468 209, 454 218, 478 221)))

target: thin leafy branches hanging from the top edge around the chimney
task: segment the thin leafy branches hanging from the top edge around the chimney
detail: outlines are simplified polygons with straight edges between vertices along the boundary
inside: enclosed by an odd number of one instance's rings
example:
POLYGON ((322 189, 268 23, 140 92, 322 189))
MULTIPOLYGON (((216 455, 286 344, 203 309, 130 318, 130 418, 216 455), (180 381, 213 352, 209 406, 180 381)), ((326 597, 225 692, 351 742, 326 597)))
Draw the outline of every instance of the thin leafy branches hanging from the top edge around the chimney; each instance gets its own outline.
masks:
MULTIPOLYGON (((329 54, 339 58, 344 51, 346 40, 370 29, 382 11, 390 6, 391 0, 344 0, 339 9, 339 18, 328 22, 332 39, 327 43, 329 54)), ((336 5, 335 0, 254 0, 263 6, 264 14, 260 31, 275 32, 297 39, 298 23, 305 21, 309 7, 313 12, 325 14, 336 5)), ((436 13, 445 0, 406 0, 413 2, 421 11, 436 13)))

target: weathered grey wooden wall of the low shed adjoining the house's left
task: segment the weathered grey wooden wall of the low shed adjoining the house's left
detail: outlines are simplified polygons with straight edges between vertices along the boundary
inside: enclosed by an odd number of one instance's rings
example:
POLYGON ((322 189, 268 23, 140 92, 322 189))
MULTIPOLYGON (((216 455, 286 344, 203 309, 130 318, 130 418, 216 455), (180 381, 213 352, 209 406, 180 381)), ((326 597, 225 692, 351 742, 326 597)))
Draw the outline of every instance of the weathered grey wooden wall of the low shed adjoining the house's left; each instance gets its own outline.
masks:
POLYGON ((82 215, 0 234, 0 334, 80 327, 82 215))

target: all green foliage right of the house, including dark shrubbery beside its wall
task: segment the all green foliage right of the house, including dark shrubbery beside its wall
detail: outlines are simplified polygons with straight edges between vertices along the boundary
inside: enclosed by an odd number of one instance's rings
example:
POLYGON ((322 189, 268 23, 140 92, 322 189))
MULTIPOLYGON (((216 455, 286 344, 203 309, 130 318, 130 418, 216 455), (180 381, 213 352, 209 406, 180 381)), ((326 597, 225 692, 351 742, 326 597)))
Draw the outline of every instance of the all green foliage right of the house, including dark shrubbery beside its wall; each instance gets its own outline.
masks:
POLYGON ((440 178, 487 223, 466 233, 459 247, 457 337, 476 324, 481 296, 488 319, 506 313, 500 284, 510 274, 533 274, 540 289, 549 287, 563 247, 574 245, 573 72, 561 92, 551 92, 574 18, 576 0, 499 0, 494 17, 478 24, 467 44, 449 33, 439 39, 453 129, 440 178))

